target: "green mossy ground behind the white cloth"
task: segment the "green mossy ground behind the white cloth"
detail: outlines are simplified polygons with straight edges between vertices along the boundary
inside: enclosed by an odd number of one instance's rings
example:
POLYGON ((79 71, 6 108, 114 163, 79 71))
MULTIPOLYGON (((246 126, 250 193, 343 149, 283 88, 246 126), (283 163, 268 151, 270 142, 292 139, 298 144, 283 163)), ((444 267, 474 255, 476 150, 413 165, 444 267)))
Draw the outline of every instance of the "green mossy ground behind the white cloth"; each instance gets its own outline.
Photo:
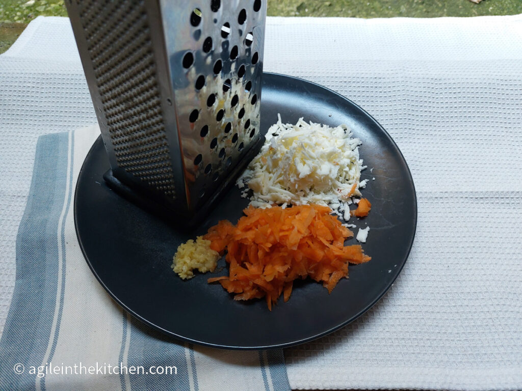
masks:
MULTIPOLYGON (((522 14, 522 0, 268 0, 270 16, 431 18, 522 14)), ((67 16, 64 0, 0 0, 0 53, 39 15, 67 16)))

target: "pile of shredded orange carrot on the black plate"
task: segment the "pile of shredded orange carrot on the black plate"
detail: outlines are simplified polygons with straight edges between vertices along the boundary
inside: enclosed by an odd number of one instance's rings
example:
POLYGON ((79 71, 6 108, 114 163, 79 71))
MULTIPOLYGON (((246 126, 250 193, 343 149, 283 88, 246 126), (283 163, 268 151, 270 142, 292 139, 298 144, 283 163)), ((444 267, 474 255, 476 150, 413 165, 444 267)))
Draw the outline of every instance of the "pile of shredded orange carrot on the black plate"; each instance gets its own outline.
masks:
POLYGON ((219 282, 235 300, 265 298, 271 310, 281 294, 284 301, 290 298, 296 278, 306 277, 331 292, 348 277, 348 263, 371 259, 359 245, 344 246, 353 233, 330 215, 327 206, 250 206, 243 212, 237 225, 220 221, 204 236, 212 250, 228 251, 230 265, 228 276, 208 282, 219 282))

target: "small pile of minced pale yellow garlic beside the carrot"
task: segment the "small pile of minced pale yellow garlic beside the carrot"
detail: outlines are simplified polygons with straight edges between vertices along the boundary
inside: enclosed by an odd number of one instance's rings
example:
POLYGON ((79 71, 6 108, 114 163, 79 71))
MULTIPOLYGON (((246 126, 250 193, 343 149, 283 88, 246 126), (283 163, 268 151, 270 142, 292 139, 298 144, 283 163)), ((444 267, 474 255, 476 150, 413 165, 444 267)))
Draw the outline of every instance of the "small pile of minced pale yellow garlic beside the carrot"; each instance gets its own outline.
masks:
POLYGON ((177 248, 171 267, 181 278, 189 279, 194 277, 194 269, 213 272, 218 259, 219 253, 210 248, 210 240, 198 236, 196 241, 188 240, 177 248))

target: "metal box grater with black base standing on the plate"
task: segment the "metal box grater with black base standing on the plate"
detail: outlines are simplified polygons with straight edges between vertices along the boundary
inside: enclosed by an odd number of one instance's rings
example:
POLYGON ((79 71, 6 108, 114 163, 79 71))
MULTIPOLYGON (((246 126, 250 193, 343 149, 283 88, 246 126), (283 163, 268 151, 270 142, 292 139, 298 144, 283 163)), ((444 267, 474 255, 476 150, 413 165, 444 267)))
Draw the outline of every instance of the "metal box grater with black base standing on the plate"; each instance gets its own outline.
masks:
POLYGON ((146 209, 203 217, 257 153, 267 0, 66 0, 111 170, 146 209))

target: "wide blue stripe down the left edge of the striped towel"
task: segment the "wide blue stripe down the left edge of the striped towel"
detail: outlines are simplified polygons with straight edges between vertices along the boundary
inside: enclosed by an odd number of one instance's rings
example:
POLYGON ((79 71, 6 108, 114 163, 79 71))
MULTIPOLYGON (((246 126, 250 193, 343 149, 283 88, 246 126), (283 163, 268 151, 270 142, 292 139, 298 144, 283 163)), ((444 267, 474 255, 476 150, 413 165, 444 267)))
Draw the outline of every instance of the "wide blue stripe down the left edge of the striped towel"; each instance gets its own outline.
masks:
MULTIPOLYGON (((67 180, 68 133, 40 137, 26 210, 16 240, 16 284, 0 341, 0 389, 33 390, 48 348, 58 284, 58 220, 67 180)), ((60 243, 60 246, 62 243, 60 243)))

